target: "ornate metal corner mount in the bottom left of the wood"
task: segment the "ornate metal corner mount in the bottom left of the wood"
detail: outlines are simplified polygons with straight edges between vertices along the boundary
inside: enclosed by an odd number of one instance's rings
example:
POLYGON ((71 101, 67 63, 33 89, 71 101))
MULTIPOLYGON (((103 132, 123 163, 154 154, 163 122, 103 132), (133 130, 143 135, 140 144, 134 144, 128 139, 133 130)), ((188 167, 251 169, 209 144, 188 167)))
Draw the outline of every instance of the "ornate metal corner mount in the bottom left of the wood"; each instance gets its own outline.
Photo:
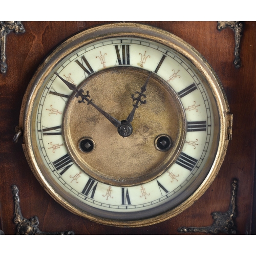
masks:
POLYGON ((19 206, 18 188, 17 186, 12 186, 12 194, 14 198, 14 223, 17 225, 16 234, 75 234, 73 231, 65 232, 42 232, 39 230, 38 217, 33 216, 29 220, 22 216, 22 211, 19 206))

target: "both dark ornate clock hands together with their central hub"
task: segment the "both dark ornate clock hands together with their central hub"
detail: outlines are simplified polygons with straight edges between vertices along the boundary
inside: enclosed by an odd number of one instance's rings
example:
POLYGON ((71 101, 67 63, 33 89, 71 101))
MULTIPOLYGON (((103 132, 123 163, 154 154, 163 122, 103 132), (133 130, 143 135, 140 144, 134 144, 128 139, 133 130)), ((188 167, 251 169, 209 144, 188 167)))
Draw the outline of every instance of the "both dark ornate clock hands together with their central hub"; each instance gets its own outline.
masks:
POLYGON ((121 135, 122 137, 128 137, 132 134, 133 132, 133 127, 132 127, 132 124, 131 122, 133 121, 133 117, 134 117, 134 114, 135 114, 135 111, 136 109, 139 108, 139 103, 140 104, 145 104, 146 103, 146 100, 142 100, 141 98, 146 98, 146 95, 143 94, 145 91, 146 91, 146 87, 147 87, 147 83, 148 83, 148 80, 150 79, 151 77, 151 74, 152 72, 150 72, 150 74, 148 75, 147 77, 147 80, 145 81, 144 85, 141 87, 141 91, 140 92, 136 92, 136 94, 138 94, 139 96, 138 97, 135 97, 134 94, 132 94, 132 99, 133 101, 136 101, 135 104, 133 105, 133 110, 131 111, 131 113, 129 114, 129 116, 127 117, 126 120, 123 120, 123 121, 118 121, 116 118, 114 118, 113 116, 111 116, 110 114, 106 113, 104 110, 102 110, 98 105, 96 105, 95 103, 92 102, 92 99, 88 99, 90 98, 90 95, 89 95, 89 91, 86 92, 86 95, 84 95, 84 91, 82 89, 78 90, 76 88, 76 86, 63 79, 62 77, 60 77, 56 72, 55 72, 55 75, 62 81, 66 84, 66 86, 74 91, 76 94, 75 94, 75 97, 78 98, 79 96, 81 97, 81 100, 78 100, 79 103, 86 103, 87 101, 87 104, 91 104, 96 110, 98 110, 106 119, 108 119, 112 124, 114 124, 115 127, 117 127, 117 131, 119 133, 119 135, 121 135), (85 101, 84 101, 85 100, 85 101))

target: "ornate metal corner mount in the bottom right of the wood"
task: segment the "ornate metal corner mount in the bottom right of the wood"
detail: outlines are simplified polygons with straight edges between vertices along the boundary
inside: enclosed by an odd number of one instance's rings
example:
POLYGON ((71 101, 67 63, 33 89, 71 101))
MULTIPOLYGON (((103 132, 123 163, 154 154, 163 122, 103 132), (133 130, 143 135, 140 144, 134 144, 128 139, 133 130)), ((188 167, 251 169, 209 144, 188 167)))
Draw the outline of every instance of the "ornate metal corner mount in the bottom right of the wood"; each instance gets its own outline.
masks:
POLYGON ((220 232, 227 234, 236 234, 236 226, 234 219, 237 217, 236 197, 238 190, 238 180, 234 179, 232 182, 232 196, 230 200, 229 209, 226 212, 215 211, 211 213, 214 223, 208 227, 179 227, 178 232, 204 232, 211 234, 218 234, 220 232))

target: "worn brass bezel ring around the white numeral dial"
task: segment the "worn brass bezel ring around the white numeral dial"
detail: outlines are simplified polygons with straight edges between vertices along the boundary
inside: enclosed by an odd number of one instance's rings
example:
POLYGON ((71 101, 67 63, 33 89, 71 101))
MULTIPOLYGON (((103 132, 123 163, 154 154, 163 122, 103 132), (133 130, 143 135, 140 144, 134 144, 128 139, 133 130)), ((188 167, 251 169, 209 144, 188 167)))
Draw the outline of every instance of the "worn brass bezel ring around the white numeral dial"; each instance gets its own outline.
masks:
POLYGON ((24 143, 23 148, 29 162, 29 165, 38 179, 40 184, 46 189, 46 191, 63 207, 72 211, 74 214, 86 217, 92 221, 112 226, 119 227, 140 227, 146 225, 156 224, 162 221, 165 221, 169 218, 172 218, 178 215, 180 212, 191 206, 196 200, 198 200, 206 189, 210 186, 212 181, 215 179, 216 175, 219 172, 221 164, 223 162, 224 156, 226 154, 228 139, 227 139, 227 114, 229 113, 229 106, 227 99, 221 85, 221 82, 215 73, 214 70, 210 67, 208 62, 204 57, 198 53, 193 47, 188 45, 185 41, 178 38, 177 36, 170 34, 169 32, 160 30, 158 28, 140 25, 140 24, 109 24, 99 27, 94 27, 86 31, 82 31, 79 34, 74 35, 65 42, 63 42, 59 47, 57 47, 41 64, 41 66, 36 71, 32 80, 29 83, 28 89, 25 93, 22 109, 20 111, 19 118, 19 127, 22 127, 24 131, 24 143), (216 105, 218 108, 219 114, 219 145, 216 152, 214 163, 212 164, 207 177, 201 183, 201 185, 196 189, 196 191, 187 198, 183 203, 174 209, 168 210, 163 214, 158 216, 143 219, 143 220, 133 220, 133 221, 122 221, 122 220, 110 220, 101 217, 88 214, 80 210, 77 207, 74 207, 71 203, 65 200, 58 194, 47 181, 45 175, 41 172, 36 156, 33 153, 33 146, 31 141, 31 123, 33 122, 31 113, 33 106, 36 102, 36 95, 39 88, 39 84, 44 81, 49 75, 51 70, 54 69, 54 66, 65 56, 77 50, 79 47, 85 44, 90 44, 96 40, 107 39, 110 37, 138 37, 144 39, 150 39, 155 42, 158 42, 162 45, 165 45, 169 48, 174 49, 179 54, 187 58, 198 70, 203 78, 207 81, 209 88, 215 98, 216 105), (54 61, 53 61, 54 60, 54 61))

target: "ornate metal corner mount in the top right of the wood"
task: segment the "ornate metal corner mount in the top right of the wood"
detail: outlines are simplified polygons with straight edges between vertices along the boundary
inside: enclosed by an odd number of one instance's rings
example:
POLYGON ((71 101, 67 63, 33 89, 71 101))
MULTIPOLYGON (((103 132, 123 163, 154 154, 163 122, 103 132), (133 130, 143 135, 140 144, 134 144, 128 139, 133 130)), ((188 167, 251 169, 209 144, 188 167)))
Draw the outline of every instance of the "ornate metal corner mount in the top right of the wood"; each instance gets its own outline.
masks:
POLYGON ((234 67, 237 69, 241 67, 241 59, 240 59, 240 41, 241 41, 241 36, 242 32, 244 29, 244 25, 242 22, 218 22, 217 29, 222 30, 225 29, 226 27, 230 27, 234 31, 234 38, 236 45, 234 47, 234 67))

